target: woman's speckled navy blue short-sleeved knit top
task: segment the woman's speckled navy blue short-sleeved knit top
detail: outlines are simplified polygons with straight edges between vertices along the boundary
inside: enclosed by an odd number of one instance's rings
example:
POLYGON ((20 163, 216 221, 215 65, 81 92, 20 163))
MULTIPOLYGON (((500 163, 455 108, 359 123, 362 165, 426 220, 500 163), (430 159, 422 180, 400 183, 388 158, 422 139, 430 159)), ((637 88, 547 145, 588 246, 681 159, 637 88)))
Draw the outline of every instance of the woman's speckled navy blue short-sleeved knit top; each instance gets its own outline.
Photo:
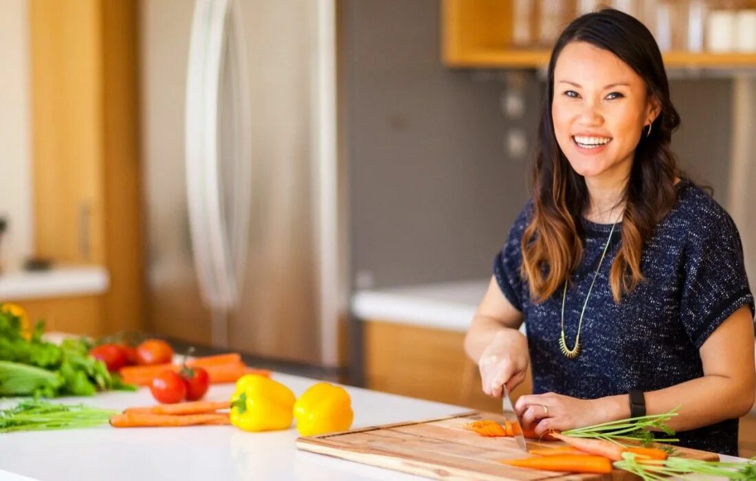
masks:
MULTIPOLYGON (((494 276, 510 303, 523 313, 534 393, 596 399, 652 391, 703 375, 699 348, 741 306, 754 312, 740 236, 733 220, 704 191, 683 180, 677 203, 643 247, 646 281, 619 304, 612 299, 609 269, 621 241, 617 225, 593 286, 581 328, 581 353, 559 351, 562 288, 534 303, 520 275, 520 241, 530 219, 528 201, 494 259, 494 276)), ((580 312, 612 225, 584 220, 584 255, 565 301, 565 339, 575 345, 580 312)), ((749 359, 748 362, 751 362, 749 359)), ((749 365, 748 368, 752 368, 749 365)), ((745 369, 745 367, 744 367, 745 369)), ((684 405, 686 399, 680 399, 684 405)), ((711 402, 727 402, 711 393, 711 402)), ((738 453, 738 420, 677 433, 679 445, 728 455, 738 453)))

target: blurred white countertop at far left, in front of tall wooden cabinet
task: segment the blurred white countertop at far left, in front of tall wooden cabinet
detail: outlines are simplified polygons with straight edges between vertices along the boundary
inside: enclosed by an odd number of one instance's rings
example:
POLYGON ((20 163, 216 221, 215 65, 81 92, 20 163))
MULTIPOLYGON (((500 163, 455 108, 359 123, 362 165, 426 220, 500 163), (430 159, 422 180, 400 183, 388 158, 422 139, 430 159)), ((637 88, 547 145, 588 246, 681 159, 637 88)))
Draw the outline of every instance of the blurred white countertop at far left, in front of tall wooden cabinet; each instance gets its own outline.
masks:
POLYGON ((42 297, 91 296, 104 293, 110 276, 97 265, 57 267, 41 272, 0 274, 0 301, 42 297))

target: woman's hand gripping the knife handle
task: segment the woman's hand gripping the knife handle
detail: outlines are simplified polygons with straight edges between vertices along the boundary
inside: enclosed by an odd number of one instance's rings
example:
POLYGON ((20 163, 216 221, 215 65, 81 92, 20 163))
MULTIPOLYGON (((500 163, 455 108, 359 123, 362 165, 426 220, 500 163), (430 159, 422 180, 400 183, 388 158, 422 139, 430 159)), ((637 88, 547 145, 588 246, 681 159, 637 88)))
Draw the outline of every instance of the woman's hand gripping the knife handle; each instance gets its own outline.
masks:
POLYGON ((504 383, 511 392, 525 380, 529 363, 528 340, 525 336, 516 329, 500 330, 478 361, 483 392, 500 398, 504 383))

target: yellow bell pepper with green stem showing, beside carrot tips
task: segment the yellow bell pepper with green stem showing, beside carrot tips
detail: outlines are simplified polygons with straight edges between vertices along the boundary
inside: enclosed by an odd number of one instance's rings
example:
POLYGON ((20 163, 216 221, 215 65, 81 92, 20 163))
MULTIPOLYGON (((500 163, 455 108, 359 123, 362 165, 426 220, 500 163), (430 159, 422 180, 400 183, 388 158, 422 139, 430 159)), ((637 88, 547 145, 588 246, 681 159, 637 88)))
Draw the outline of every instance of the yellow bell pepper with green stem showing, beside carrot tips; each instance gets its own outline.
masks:
POLYGON ((268 377, 246 374, 231 396, 231 424, 245 431, 286 430, 293 419, 296 396, 268 377))

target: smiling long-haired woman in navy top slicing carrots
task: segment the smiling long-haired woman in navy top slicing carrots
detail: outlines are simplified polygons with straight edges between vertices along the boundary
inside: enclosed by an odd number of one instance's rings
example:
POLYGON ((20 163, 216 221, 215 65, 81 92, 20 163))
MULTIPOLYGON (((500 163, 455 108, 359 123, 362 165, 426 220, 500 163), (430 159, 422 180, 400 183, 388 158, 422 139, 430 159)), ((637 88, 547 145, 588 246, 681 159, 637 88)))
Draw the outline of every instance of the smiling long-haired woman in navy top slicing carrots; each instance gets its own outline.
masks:
POLYGON ((465 340, 536 433, 662 414, 680 444, 735 455, 754 402, 754 298, 727 212, 670 150, 680 123, 649 30, 573 21, 547 74, 531 200, 465 340), (528 337, 517 330, 525 321, 528 337))

